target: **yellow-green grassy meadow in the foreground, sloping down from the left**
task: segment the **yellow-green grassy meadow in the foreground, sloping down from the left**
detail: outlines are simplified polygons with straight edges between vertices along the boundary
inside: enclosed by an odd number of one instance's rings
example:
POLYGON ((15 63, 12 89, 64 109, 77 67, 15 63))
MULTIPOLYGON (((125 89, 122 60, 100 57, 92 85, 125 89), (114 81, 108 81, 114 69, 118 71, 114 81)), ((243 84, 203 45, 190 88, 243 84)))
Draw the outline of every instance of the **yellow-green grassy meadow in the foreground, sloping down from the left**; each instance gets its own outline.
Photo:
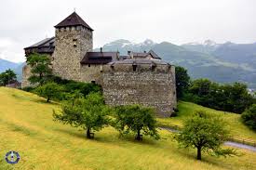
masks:
MULTIPOLYGON (((181 112, 195 107, 190 103, 181 106, 181 112)), ((204 155, 198 162, 195 150, 178 149, 165 130, 160 131, 161 140, 136 142, 133 137, 118 138, 115 129, 107 127, 88 140, 84 131, 53 122, 53 109, 59 106, 0 87, 0 157, 9 150, 19 151, 21 157, 15 165, 0 159, 0 169, 256 169, 256 153, 249 150, 238 150, 241 157, 227 159, 204 155)))

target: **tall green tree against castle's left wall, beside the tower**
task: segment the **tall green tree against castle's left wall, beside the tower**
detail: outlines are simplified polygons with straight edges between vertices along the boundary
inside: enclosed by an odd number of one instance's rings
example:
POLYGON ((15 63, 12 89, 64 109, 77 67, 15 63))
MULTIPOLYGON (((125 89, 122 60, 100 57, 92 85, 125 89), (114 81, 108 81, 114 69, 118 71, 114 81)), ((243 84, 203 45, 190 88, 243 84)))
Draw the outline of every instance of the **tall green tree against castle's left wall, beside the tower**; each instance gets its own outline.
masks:
POLYGON ((52 74, 49 68, 50 59, 47 55, 34 53, 27 58, 27 64, 31 66, 33 75, 29 77, 32 84, 40 85, 47 82, 47 78, 52 74))

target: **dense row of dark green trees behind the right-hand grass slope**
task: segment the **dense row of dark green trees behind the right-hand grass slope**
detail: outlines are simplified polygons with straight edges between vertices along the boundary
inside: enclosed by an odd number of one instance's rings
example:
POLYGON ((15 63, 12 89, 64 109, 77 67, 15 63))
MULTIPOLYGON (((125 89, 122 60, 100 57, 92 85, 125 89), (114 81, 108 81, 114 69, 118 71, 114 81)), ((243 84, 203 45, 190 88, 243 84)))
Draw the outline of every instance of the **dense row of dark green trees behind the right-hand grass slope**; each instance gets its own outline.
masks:
POLYGON ((197 79, 190 85, 188 93, 182 98, 202 106, 222 111, 241 113, 248 108, 253 98, 249 95, 247 85, 219 85, 208 79, 197 79))

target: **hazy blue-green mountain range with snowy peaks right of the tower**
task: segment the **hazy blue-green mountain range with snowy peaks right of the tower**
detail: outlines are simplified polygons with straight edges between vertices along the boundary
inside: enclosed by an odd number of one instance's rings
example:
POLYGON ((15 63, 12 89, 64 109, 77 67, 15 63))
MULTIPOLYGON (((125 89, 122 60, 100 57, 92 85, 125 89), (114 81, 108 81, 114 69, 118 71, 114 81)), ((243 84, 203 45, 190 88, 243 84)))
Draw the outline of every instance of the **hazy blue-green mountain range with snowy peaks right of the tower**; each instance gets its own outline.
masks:
POLYGON ((243 82, 256 88, 256 48, 253 46, 255 45, 217 44, 211 40, 182 46, 168 42, 157 44, 152 40, 135 44, 121 39, 102 47, 103 51, 119 51, 121 55, 127 55, 128 50, 142 52, 153 49, 162 59, 185 67, 193 79, 209 78, 219 83, 243 82), (232 58, 236 51, 239 53, 232 58))

